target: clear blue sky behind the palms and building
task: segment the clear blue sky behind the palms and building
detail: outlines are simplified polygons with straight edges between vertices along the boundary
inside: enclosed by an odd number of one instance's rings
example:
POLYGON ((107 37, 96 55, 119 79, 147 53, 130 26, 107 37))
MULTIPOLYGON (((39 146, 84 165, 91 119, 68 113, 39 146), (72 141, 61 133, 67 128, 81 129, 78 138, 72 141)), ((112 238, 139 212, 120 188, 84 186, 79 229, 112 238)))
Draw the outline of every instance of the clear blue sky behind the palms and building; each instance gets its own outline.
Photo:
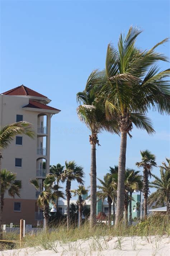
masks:
MULTIPOLYGON (((75 160, 89 185, 89 131, 76 115, 76 93, 94 68, 104 68, 107 44, 117 44, 134 25, 144 31, 137 44, 151 48, 169 36, 168 1, 1 1, 1 92, 24 84, 61 109, 52 117, 51 165, 75 160)), ((159 51, 169 55, 169 44, 159 51)), ((168 63, 160 63, 162 69, 168 63)), ((156 135, 132 130, 127 167, 136 168, 140 149, 156 154, 158 165, 169 156, 169 118, 150 113, 156 135)), ((97 176, 117 165, 120 138, 102 133, 97 148, 97 176)), ((153 170, 159 174, 159 169, 153 170)), ((76 187, 76 183, 72 188, 76 187)))

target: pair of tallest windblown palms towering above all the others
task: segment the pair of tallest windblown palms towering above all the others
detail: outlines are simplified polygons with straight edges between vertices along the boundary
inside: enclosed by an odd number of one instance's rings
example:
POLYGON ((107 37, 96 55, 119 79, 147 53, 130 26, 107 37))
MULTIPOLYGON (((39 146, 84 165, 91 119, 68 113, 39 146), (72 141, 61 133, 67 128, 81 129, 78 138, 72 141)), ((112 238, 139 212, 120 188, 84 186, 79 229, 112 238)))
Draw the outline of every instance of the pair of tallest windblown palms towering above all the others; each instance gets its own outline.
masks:
POLYGON ((121 135, 115 220, 118 225, 123 219, 127 135, 132 138, 130 131, 133 124, 138 129, 146 130, 148 134, 155 133, 150 118, 146 116, 149 109, 157 110, 160 114, 169 113, 170 94, 166 77, 169 76, 170 70, 159 72, 156 63, 160 60, 167 61, 167 58, 155 51, 167 39, 160 41, 150 50, 141 50, 135 45, 141 32, 136 27, 130 27, 126 36, 121 33, 117 49, 109 44, 105 69, 101 72, 93 71, 84 91, 77 93, 77 100, 81 104, 77 108, 78 116, 91 130, 91 227, 95 225, 96 216, 98 133, 107 130, 121 135))

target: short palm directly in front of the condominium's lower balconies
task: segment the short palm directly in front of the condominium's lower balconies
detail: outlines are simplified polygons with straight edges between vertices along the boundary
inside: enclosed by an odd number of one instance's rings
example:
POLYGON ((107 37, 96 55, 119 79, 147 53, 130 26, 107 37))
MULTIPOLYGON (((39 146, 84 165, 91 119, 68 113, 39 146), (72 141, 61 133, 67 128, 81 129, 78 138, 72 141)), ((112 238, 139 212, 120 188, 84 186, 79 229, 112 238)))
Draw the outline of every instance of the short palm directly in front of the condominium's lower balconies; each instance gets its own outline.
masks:
MULTIPOLYGON (((41 184, 39 184, 38 179, 30 179, 29 181, 37 190, 41 189, 41 184)), ((49 219, 49 203, 52 202, 55 205, 55 202, 58 198, 64 198, 63 192, 58 190, 61 187, 54 185, 55 177, 53 175, 47 175, 43 181, 43 191, 39 193, 37 199, 37 205, 39 208, 42 208, 44 215, 44 229, 47 229, 48 219, 49 219)))

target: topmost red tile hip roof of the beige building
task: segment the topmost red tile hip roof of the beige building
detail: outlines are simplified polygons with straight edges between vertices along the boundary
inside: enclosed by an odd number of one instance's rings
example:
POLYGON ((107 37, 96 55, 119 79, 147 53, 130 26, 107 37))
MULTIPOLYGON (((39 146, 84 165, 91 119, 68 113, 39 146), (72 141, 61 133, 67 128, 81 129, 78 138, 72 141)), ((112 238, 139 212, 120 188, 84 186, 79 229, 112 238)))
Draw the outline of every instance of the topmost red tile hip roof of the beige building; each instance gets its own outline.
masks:
POLYGON ((14 89, 11 89, 9 91, 5 91, 5 93, 1 93, 5 95, 28 95, 28 96, 36 96, 41 98, 47 98, 46 96, 42 95, 41 93, 37 93, 37 91, 34 91, 24 85, 20 85, 18 87, 15 87, 14 89))

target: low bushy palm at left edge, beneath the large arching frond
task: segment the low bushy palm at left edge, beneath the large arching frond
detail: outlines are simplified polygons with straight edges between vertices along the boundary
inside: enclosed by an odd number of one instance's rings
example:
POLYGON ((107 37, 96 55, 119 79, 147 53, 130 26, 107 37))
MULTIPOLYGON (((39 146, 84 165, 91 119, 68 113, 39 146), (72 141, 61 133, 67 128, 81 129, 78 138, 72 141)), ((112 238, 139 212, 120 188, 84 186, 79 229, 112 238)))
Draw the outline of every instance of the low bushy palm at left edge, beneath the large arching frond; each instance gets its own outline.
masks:
POLYGON ((1 211, 4 207, 4 194, 8 191, 9 196, 15 197, 20 196, 20 184, 19 181, 16 181, 16 174, 6 169, 1 170, 1 211))

